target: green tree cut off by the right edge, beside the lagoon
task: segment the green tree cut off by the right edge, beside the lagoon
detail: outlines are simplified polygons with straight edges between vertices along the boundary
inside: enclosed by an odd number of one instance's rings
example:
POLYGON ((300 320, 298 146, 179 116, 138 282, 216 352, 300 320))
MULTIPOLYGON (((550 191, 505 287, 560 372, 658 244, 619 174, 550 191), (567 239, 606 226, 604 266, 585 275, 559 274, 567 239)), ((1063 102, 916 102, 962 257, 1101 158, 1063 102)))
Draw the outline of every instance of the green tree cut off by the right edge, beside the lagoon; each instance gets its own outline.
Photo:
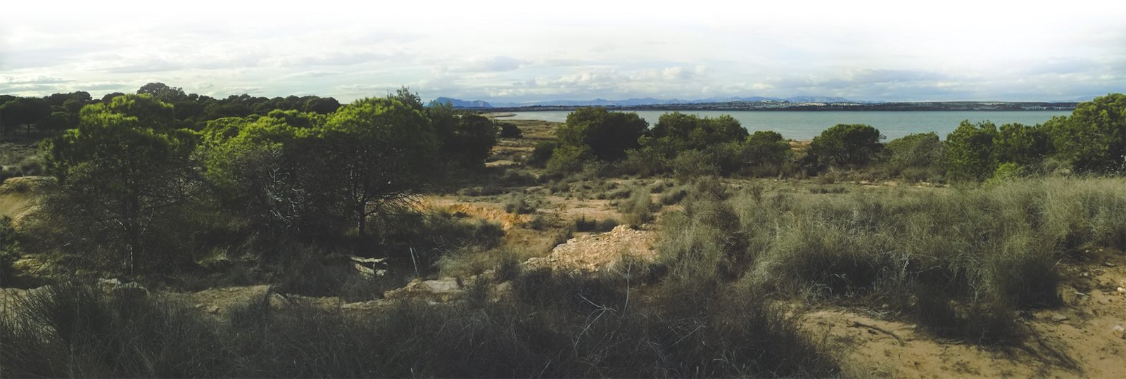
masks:
POLYGON ((1126 94, 1111 93, 1080 103, 1071 117, 1044 125, 1057 156, 1079 171, 1120 171, 1126 162, 1126 94))

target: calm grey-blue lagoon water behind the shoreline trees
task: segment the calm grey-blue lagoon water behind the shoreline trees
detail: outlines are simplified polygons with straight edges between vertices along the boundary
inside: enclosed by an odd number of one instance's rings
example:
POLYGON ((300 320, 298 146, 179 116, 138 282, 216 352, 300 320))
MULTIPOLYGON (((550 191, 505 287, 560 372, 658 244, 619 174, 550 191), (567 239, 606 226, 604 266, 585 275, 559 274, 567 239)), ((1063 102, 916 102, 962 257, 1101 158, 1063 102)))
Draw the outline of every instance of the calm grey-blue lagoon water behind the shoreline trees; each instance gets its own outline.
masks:
MULTIPOLYGON (((661 115, 670 111, 665 110, 640 110, 638 116, 649 121, 652 126, 661 115)), ((946 139, 946 135, 954 132, 962 120, 968 119, 971 123, 993 121, 998 126, 1002 124, 1020 123, 1025 125, 1036 125, 1047 121, 1055 116, 1067 116, 1071 111, 1064 110, 915 110, 915 111, 783 111, 783 110, 698 110, 681 111, 706 117, 718 117, 720 115, 731 115, 743 125, 744 128, 754 130, 775 130, 783 137, 790 139, 812 139, 822 130, 837 124, 867 124, 879 129, 887 136, 887 141, 895 139, 912 133, 938 133, 939 138, 946 139)), ((516 116, 504 117, 508 119, 538 119, 545 121, 566 121, 570 111, 520 111, 516 116)), ((504 118, 501 118, 503 120, 504 118)))

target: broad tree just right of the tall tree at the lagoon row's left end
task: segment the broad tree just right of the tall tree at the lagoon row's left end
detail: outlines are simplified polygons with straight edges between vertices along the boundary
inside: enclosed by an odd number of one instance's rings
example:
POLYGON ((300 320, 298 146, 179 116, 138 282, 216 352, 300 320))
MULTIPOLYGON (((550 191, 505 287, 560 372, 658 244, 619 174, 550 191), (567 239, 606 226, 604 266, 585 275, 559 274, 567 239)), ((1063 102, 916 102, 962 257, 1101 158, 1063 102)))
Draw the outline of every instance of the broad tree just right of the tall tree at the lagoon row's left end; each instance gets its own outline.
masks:
POLYGON ((650 135, 668 141, 678 150, 700 150, 721 143, 743 142, 748 133, 730 115, 701 118, 674 111, 661 115, 650 135))

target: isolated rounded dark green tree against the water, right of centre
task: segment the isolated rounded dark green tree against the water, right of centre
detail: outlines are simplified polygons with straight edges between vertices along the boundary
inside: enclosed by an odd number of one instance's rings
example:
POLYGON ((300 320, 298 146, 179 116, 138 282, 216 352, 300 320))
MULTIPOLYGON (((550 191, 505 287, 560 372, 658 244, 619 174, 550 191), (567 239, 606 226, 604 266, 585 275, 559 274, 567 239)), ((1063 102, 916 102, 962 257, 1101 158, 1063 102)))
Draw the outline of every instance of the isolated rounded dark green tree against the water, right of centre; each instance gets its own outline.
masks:
POLYGON ((879 130, 860 124, 838 124, 813 137, 810 153, 816 156, 821 164, 834 166, 855 166, 867 164, 883 145, 884 136, 879 130))

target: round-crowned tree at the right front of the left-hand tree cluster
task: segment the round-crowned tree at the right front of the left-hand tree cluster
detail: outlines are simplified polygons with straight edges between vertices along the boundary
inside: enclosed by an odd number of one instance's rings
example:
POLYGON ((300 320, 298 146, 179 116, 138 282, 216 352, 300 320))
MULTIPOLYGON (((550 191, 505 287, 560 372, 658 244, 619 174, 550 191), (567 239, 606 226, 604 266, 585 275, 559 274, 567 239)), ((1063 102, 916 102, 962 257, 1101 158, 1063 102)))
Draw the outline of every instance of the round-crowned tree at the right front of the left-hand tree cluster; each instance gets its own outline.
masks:
POLYGON ((343 213, 365 234, 367 218, 396 206, 437 168, 438 138, 421 109, 393 98, 341 107, 321 130, 323 173, 339 182, 343 213))

